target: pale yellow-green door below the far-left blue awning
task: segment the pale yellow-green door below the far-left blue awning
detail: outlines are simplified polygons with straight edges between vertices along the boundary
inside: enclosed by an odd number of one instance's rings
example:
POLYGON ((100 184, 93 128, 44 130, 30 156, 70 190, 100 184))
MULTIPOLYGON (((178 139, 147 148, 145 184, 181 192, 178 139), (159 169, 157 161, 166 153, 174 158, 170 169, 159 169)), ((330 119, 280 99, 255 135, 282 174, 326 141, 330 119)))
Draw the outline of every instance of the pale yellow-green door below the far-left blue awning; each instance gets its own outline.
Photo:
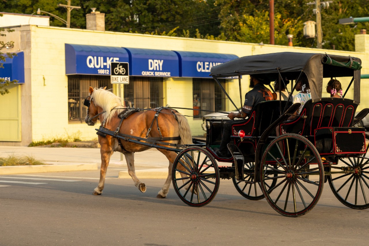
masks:
POLYGON ((21 141, 21 85, 8 86, 10 93, 0 95, 0 141, 21 141))

